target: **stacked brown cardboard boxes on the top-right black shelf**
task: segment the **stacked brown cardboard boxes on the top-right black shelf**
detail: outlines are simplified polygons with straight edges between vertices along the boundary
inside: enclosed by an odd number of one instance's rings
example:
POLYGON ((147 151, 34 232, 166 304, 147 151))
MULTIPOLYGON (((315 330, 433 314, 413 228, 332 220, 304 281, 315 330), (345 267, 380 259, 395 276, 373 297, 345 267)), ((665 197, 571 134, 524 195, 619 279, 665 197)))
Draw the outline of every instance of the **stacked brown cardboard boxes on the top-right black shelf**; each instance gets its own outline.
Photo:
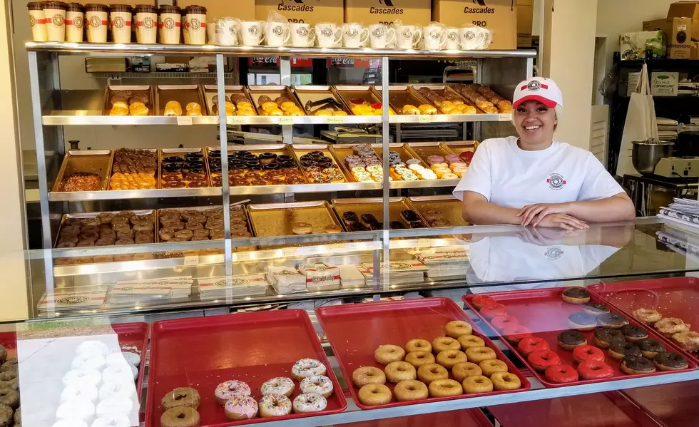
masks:
POLYGON ((668 38, 668 58, 699 59, 699 1, 678 1, 666 19, 643 22, 643 31, 655 30, 668 38))

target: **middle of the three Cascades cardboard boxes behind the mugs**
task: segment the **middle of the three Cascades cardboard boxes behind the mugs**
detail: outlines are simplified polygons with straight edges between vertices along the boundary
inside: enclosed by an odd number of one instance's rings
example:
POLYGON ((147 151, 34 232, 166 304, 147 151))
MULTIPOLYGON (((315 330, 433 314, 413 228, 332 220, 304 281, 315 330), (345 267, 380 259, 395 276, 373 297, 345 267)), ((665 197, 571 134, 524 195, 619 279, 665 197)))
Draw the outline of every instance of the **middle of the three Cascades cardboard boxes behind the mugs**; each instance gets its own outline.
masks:
POLYGON ((345 22, 364 25, 403 24, 426 26, 430 23, 431 0, 347 0, 345 22))

